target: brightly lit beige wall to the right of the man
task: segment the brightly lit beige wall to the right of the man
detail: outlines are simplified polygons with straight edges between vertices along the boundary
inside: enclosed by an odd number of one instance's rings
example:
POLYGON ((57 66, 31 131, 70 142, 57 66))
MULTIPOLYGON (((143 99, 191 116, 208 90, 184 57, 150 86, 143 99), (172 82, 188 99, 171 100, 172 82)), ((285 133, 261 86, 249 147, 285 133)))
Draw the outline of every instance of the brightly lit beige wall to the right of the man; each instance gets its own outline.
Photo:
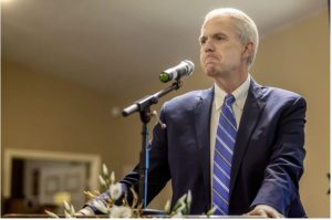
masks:
POLYGON ((283 87, 307 99, 304 175, 300 193, 310 217, 329 217, 330 44, 328 10, 267 35, 252 74, 261 84, 283 87))

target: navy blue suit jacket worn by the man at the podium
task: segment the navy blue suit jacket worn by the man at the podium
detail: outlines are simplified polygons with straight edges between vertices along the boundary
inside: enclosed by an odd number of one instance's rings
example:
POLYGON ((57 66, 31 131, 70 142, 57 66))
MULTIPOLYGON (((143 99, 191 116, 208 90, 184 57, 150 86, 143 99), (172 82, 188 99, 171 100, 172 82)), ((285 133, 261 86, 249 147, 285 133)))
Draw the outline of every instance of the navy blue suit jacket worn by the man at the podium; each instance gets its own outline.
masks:
MULTIPOLYGON (((195 91, 166 102, 151 142, 148 201, 172 179, 173 205, 190 189, 191 213, 211 208, 210 113, 214 90, 195 91)), ((303 172, 305 101, 298 94, 263 87, 253 80, 236 139, 229 213, 242 214, 256 205, 286 217, 304 217, 299 180, 303 172)), ((123 180, 138 185, 138 167, 123 180)))

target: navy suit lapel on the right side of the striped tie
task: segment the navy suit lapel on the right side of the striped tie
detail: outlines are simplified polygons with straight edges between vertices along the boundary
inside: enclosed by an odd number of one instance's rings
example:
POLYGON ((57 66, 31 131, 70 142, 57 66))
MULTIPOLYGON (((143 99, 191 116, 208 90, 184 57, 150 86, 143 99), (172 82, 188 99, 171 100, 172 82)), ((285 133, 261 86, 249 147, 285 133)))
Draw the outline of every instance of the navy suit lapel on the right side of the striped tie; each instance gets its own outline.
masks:
POLYGON ((260 96, 261 87, 251 78, 235 145, 229 187, 230 197, 232 195, 232 189, 235 187, 236 178, 241 166, 246 149, 261 115, 261 112, 264 107, 264 103, 260 101, 260 96))

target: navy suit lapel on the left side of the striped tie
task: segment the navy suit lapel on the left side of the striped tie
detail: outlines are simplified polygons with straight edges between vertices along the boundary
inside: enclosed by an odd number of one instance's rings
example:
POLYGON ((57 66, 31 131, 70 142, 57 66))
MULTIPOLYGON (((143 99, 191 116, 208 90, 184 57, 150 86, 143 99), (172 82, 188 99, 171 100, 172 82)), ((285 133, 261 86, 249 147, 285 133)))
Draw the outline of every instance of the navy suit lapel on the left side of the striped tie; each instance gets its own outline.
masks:
POLYGON ((194 109, 195 135, 204 177, 204 191, 210 201, 210 115, 214 90, 203 91, 194 109))

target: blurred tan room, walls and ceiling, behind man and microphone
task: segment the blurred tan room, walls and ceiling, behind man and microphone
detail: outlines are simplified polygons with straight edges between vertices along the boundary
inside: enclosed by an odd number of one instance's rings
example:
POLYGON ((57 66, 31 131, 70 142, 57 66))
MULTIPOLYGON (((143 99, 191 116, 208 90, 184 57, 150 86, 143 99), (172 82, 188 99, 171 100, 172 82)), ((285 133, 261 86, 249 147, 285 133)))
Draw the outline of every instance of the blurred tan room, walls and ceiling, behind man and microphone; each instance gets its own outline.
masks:
MULTIPOLYGON (((330 30, 328 0, 1 0, 1 213, 79 209, 104 163, 120 180, 138 161, 134 101, 169 84, 163 70, 196 64, 180 90, 212 81, 199 66, 205 14, 245 11, 260 45, 250 73, 308 102, 300 195, 309 217, 330 217, 330 30)), ((155 124, 149 125, 149 129, 155 124)), ((149 205, 163 209, 168 186, 149 205)))

